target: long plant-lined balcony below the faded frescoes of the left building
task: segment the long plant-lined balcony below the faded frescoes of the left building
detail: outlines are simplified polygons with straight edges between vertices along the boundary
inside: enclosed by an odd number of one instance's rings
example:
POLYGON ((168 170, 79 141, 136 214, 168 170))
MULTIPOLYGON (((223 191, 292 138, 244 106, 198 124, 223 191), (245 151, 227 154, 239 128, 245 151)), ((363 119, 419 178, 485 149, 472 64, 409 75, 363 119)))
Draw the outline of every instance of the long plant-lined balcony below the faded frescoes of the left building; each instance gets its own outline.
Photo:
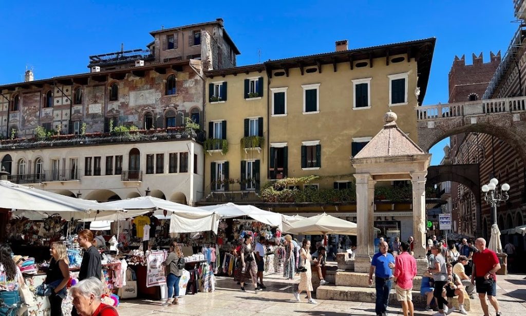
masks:
POLYGON ((185 127, 133 130, 125 132, 94 132, 84 135, 54 135, 45 138, 17 138, 0 140, 0 150, 70 147, 119 144, 125 142, 162 141, 171 139, 203 141, 203 131, 187 131, 185 127))

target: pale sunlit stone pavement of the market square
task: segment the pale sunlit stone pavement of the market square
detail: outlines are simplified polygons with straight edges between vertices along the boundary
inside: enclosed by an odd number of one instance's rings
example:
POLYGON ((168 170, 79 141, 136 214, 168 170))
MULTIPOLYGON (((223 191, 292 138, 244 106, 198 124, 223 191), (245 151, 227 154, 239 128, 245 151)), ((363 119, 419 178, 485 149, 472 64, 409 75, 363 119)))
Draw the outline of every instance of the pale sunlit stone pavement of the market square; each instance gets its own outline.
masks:
MULTIPOLYGON (((375 305, 372 303, 346 302, 332 300, 317 300, 318 304, 308 304, 306 295, 302 294, 302 302, 295 302, 292 286, 299 281, 282 279, 278 274, 265 278, 267 289, 254 293, 252 284, 246 284, 247 292, 239 291, 239 286, 231 278, 217 278, 217 288, 212 293, 198 293, 179 299, 179 305, 161 306, 160 301, 124 300, 118 307, 119 315, 142 316, 155 314, 165 315, 203 315, 203 316, 250 316, 258 313, 264 315, 291 316, 369 316, 375 315, 375 305)), ((526 314, 526 276, 510 274, 498 276, 497 295, 502 315, 526 314)), ((478 299, 473 300, 469 315, 482 316, 478 299)), ((389 307, 388 315, 402 315, 400 306, 389 307)), ((418 309, 414 316, 432 315, 436 313, 418 309)), ((490 306, 490 315, 495 312, 490 306)), ((451 316, 461 315, 454 312, 451 316)))

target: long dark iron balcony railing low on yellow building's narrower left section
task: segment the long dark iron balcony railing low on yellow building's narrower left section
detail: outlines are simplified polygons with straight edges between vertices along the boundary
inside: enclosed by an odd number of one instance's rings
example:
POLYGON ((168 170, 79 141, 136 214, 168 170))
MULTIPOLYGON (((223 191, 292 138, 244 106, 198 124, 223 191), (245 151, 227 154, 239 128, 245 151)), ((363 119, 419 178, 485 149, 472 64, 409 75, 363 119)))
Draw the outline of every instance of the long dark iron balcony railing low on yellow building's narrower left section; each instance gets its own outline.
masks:
POLYGON ((211 182, 205 191, 197 192, 197 200, 207 203, 260 202, 259 183, 256 181, 211 182))

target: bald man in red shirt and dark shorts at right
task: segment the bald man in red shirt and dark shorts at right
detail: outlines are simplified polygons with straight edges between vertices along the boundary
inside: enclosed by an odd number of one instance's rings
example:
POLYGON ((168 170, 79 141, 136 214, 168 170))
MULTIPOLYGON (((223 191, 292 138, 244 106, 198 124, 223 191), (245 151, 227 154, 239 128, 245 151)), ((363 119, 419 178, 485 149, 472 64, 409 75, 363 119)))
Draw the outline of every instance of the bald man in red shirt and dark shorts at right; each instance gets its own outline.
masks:
POLYGON ((475 248, 479 252, 473 253, 471 283, 475 284, 477 293, 479 293, 484 316, 489 316, 486 294, 488 294, 488 300, 495 309, 496 316, 501 316, 499 302, 495 298, 497 296, 497 275, 495 273, 500 269, 499 258, 497 258, 495 252, 486 248, 484 238, 475 240, 475 248))

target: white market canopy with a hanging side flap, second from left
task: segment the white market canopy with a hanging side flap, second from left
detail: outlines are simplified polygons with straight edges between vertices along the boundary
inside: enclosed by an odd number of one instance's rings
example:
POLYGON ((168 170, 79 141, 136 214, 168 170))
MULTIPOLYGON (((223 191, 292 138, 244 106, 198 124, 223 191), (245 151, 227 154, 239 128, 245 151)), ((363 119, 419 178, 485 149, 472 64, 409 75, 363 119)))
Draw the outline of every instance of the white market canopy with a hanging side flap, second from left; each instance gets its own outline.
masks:
POLYGON ((171 202, 151 196, 138 197, 127 200, 111 201, 102 203, 104 205, 122 208, 124 213, 119 214, 118 218, 97 218, 97 219, 126 219, 139 215, 144 215, 151 211, 155 216, 170 216, 170 232, 196 232, 213 231, 217 233, 219 225, 219 215, 214 211, 206 211, 197 207, 192 207, 176 202, 171 202))

